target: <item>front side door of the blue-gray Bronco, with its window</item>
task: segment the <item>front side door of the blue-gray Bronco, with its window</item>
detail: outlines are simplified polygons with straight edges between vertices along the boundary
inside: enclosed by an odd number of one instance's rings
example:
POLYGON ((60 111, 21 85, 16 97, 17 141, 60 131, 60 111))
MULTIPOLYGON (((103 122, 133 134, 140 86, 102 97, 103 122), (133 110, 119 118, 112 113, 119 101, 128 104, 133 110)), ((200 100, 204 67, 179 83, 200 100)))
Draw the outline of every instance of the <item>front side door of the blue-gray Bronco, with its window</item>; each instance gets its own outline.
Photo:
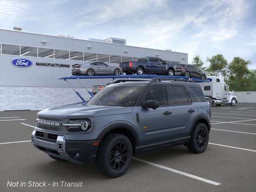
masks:
POLYGON ((159 108, 144 109, 138 106, 141 146, 172 140, 174 126, 173 107, 169 105, 166 86, 153 86, 145 94, 147 100, 157 100, 159 108))

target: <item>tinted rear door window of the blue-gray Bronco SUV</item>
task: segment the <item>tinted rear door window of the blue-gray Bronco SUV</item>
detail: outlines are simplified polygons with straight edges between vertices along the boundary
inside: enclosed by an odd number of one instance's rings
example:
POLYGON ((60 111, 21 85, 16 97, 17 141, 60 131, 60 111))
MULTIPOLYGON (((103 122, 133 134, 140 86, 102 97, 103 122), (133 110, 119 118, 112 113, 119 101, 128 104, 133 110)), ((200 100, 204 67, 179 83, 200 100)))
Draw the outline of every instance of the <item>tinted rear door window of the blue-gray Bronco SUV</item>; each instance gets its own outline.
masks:
POLYGON ((183 87, 169 86, 172 92, 172 104, 173 105, 187 105, 188 96, 183 87))

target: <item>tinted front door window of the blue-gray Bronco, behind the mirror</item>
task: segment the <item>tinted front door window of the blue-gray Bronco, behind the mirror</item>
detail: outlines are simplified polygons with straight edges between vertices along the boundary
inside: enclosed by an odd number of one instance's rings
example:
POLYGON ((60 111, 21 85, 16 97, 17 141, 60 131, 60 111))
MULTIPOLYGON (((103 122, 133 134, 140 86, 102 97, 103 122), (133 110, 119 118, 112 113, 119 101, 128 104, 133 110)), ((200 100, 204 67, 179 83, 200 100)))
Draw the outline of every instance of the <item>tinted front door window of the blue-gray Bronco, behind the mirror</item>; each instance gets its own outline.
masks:
POLYGON ((150 88, 147 92, 144 102, 147 100, 157 100, 159 102, 159 106, 168 105, 168 96, 167 90, 165 86, 155 86, 150 88))

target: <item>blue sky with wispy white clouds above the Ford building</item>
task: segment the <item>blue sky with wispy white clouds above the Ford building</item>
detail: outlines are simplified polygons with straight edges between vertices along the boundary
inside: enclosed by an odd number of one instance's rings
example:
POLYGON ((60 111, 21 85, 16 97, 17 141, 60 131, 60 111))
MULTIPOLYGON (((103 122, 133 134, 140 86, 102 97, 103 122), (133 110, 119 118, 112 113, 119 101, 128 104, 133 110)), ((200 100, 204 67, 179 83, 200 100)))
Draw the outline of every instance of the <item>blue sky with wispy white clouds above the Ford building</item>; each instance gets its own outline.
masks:
MULTIPOLYGON (((251 60, 256 0, 0 0, 0 28, 75 38, 124 38, 128 45, 251 60)), ((206 65, 208 65, 206 63, 206 65)))

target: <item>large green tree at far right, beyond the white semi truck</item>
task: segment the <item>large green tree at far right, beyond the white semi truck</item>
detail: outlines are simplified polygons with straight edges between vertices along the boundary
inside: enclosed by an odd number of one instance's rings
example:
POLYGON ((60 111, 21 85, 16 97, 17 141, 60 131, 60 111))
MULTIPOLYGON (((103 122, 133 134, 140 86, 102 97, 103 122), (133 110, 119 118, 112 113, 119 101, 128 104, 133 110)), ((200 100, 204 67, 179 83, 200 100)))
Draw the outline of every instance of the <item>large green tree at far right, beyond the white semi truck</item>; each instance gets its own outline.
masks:
POLYGON ((249 91, 255 89, 255 70, 249 70, 248 65, 250 60, 244 60, 240 57, 234 57, 228 64, 227 70, 227 84, 230 90, 249 91))

